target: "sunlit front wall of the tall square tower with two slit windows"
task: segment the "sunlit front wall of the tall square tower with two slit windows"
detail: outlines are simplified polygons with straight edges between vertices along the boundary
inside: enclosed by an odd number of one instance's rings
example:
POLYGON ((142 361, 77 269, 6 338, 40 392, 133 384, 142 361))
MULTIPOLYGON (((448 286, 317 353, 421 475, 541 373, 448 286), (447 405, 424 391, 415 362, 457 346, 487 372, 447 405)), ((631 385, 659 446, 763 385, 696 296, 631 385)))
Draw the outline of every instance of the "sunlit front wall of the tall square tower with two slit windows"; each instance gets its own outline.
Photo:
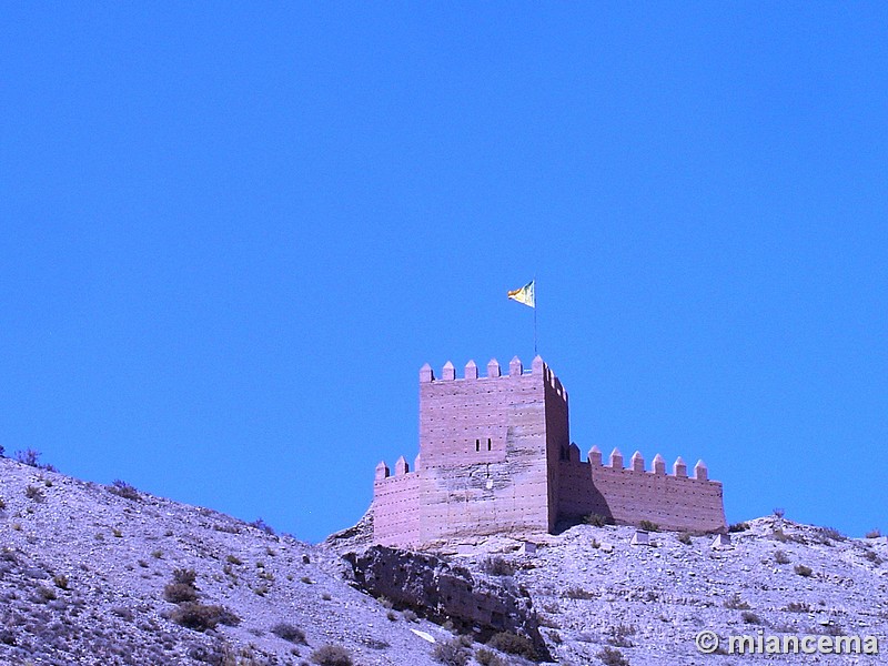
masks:
MULTIPOLYGON (((445 366, 420 383, 422 541, 554 527, 547 455, 546 377, 513 360, 487 376, 473 363, 456 379, 445 366)), ((561 398, 561 397, 559 397, 561 398)), ((562 400, 563 402, 563 400, 562 400)))

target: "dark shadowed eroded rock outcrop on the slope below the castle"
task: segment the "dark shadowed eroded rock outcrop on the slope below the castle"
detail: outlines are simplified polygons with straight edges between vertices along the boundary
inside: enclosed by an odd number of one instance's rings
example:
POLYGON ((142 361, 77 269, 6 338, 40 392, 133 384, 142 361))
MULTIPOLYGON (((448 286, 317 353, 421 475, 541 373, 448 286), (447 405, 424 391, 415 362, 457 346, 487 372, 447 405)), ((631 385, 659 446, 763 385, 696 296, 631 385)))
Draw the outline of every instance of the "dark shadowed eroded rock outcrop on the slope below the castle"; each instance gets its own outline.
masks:
POLYGON ((435 555, 386 546, 349 553, 345 561, 354 584, 367 594, 434 622, 450 620, 482 640, 500 632, 526 636, 541 659, 549 658, 529 595, 508 579, 475 577, 435 555))

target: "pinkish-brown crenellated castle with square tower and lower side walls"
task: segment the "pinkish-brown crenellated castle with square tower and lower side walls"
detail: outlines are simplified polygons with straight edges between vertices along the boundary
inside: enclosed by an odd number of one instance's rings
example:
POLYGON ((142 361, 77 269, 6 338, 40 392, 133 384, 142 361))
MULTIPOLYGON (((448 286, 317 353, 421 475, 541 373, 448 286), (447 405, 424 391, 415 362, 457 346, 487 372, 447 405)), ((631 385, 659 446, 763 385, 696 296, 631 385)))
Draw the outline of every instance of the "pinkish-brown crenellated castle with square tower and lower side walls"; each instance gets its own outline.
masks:
POLYGON ((652 470, 635 453, 629 467, 616 448, 607 465, 593 446, 582 461, 571 443, 567 392, 537 356, 526 372, 515 357, 508 374, 496 360, 462 379, 447 362, 435 377, 420 370, 420 455, 401 456, 394 475, 384 462, 373 485, 373 537, 404 547, 433 546, 504 533, 552 533, 557 523, 598 514, 617 524, 650 521, 666 529, 722 532, 722 484, 703 461, 688 476, 657 454, 652 470))

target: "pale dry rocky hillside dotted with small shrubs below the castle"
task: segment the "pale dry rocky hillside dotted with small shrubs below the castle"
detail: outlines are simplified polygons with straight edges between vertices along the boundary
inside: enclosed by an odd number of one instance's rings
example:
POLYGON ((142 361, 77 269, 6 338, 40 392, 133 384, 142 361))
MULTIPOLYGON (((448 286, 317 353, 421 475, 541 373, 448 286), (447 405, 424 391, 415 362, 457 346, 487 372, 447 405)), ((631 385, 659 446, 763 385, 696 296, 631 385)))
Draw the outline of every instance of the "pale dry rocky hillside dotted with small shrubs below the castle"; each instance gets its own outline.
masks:
MULTIPOLYGON (((481 647, 470 638, 495 633, 460 615, 475 601, 504 605, 505 622, 535 632, 541 654, 561 664, 599 664, 606 649, 610 664, 888 663, 881 655, 703 656, 694 646, 707 628, 871 634, 885 653, 885 537, 852 539, 765 517, 723 549, 709 536, 683 543, 673 533, 652 534, 656 546, 632 545, 629 527, 582 525, 541 535, 536 553, 497 537, 421 556, 369 549, 361 528, 309 545, 6 458, 0 498, 2 664, 301 665, 335 645, 355 665, 433 665, 453 632, 468 636, 462 654, 481 647), (359 552, 343 557, 351 549, 359 552), (385 567, 401 578, 386 579, 385 567), (391 601, 377 601, 386 585, 391 601), (446 585, 465 588, 462 610, 443 594, 446 585)), ((447 645, 457 663, 461 648, 447 645)))

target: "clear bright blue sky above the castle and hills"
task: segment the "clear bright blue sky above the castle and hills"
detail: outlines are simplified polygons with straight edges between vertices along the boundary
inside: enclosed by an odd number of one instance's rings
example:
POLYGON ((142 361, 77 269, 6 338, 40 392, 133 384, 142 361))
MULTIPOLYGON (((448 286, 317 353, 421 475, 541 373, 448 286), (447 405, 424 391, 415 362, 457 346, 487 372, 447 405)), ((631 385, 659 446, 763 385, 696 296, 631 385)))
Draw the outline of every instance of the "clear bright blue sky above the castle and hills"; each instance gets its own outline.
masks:
POLYGON ((730 522, 886 518, 888 6, 0 9, 0 444, 317 541, 533 355, 730 522))

